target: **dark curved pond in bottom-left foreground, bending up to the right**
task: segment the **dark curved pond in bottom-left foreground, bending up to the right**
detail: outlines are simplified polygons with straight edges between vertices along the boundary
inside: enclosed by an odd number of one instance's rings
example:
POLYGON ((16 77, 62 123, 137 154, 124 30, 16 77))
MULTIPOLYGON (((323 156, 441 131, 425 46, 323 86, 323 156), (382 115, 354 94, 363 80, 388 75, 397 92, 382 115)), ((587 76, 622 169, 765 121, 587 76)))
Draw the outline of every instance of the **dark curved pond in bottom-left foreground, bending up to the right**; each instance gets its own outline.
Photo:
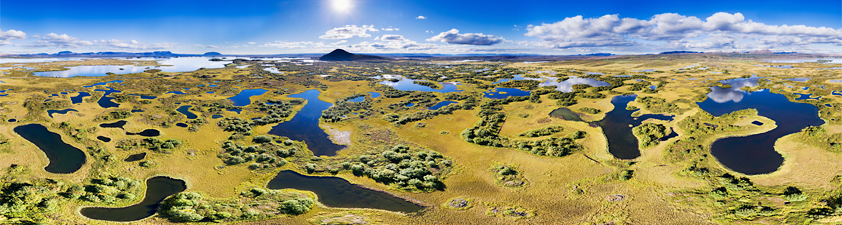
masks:
POLYGON ((137 205, 123 208, 87 207, 79 211, 83 216, 95 220, 135 221, 155 215, 158 206, 170 195, 187 189, 183 180, 169 177, 153 177, 146 181, 146 197, 137 205))

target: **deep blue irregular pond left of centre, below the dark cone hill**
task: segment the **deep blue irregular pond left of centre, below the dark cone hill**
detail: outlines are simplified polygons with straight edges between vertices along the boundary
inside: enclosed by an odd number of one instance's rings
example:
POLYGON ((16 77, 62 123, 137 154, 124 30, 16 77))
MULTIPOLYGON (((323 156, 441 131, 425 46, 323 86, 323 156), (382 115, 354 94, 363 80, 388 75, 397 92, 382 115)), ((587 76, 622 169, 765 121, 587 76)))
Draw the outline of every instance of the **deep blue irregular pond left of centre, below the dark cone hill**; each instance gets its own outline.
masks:
POLYGON ((269 134, 304 141, 307 148, 316 156, 333 156, 336 155, 336 151, 345 148, 344 145, 333 143, 327 133, 319 127, 322 111, 333 105, 320 100, 319 94, 318 90, 307 90, 300 94, 289 95, 290 98, 306 99, 307 103, 291 120, 272 127, 269 134))

